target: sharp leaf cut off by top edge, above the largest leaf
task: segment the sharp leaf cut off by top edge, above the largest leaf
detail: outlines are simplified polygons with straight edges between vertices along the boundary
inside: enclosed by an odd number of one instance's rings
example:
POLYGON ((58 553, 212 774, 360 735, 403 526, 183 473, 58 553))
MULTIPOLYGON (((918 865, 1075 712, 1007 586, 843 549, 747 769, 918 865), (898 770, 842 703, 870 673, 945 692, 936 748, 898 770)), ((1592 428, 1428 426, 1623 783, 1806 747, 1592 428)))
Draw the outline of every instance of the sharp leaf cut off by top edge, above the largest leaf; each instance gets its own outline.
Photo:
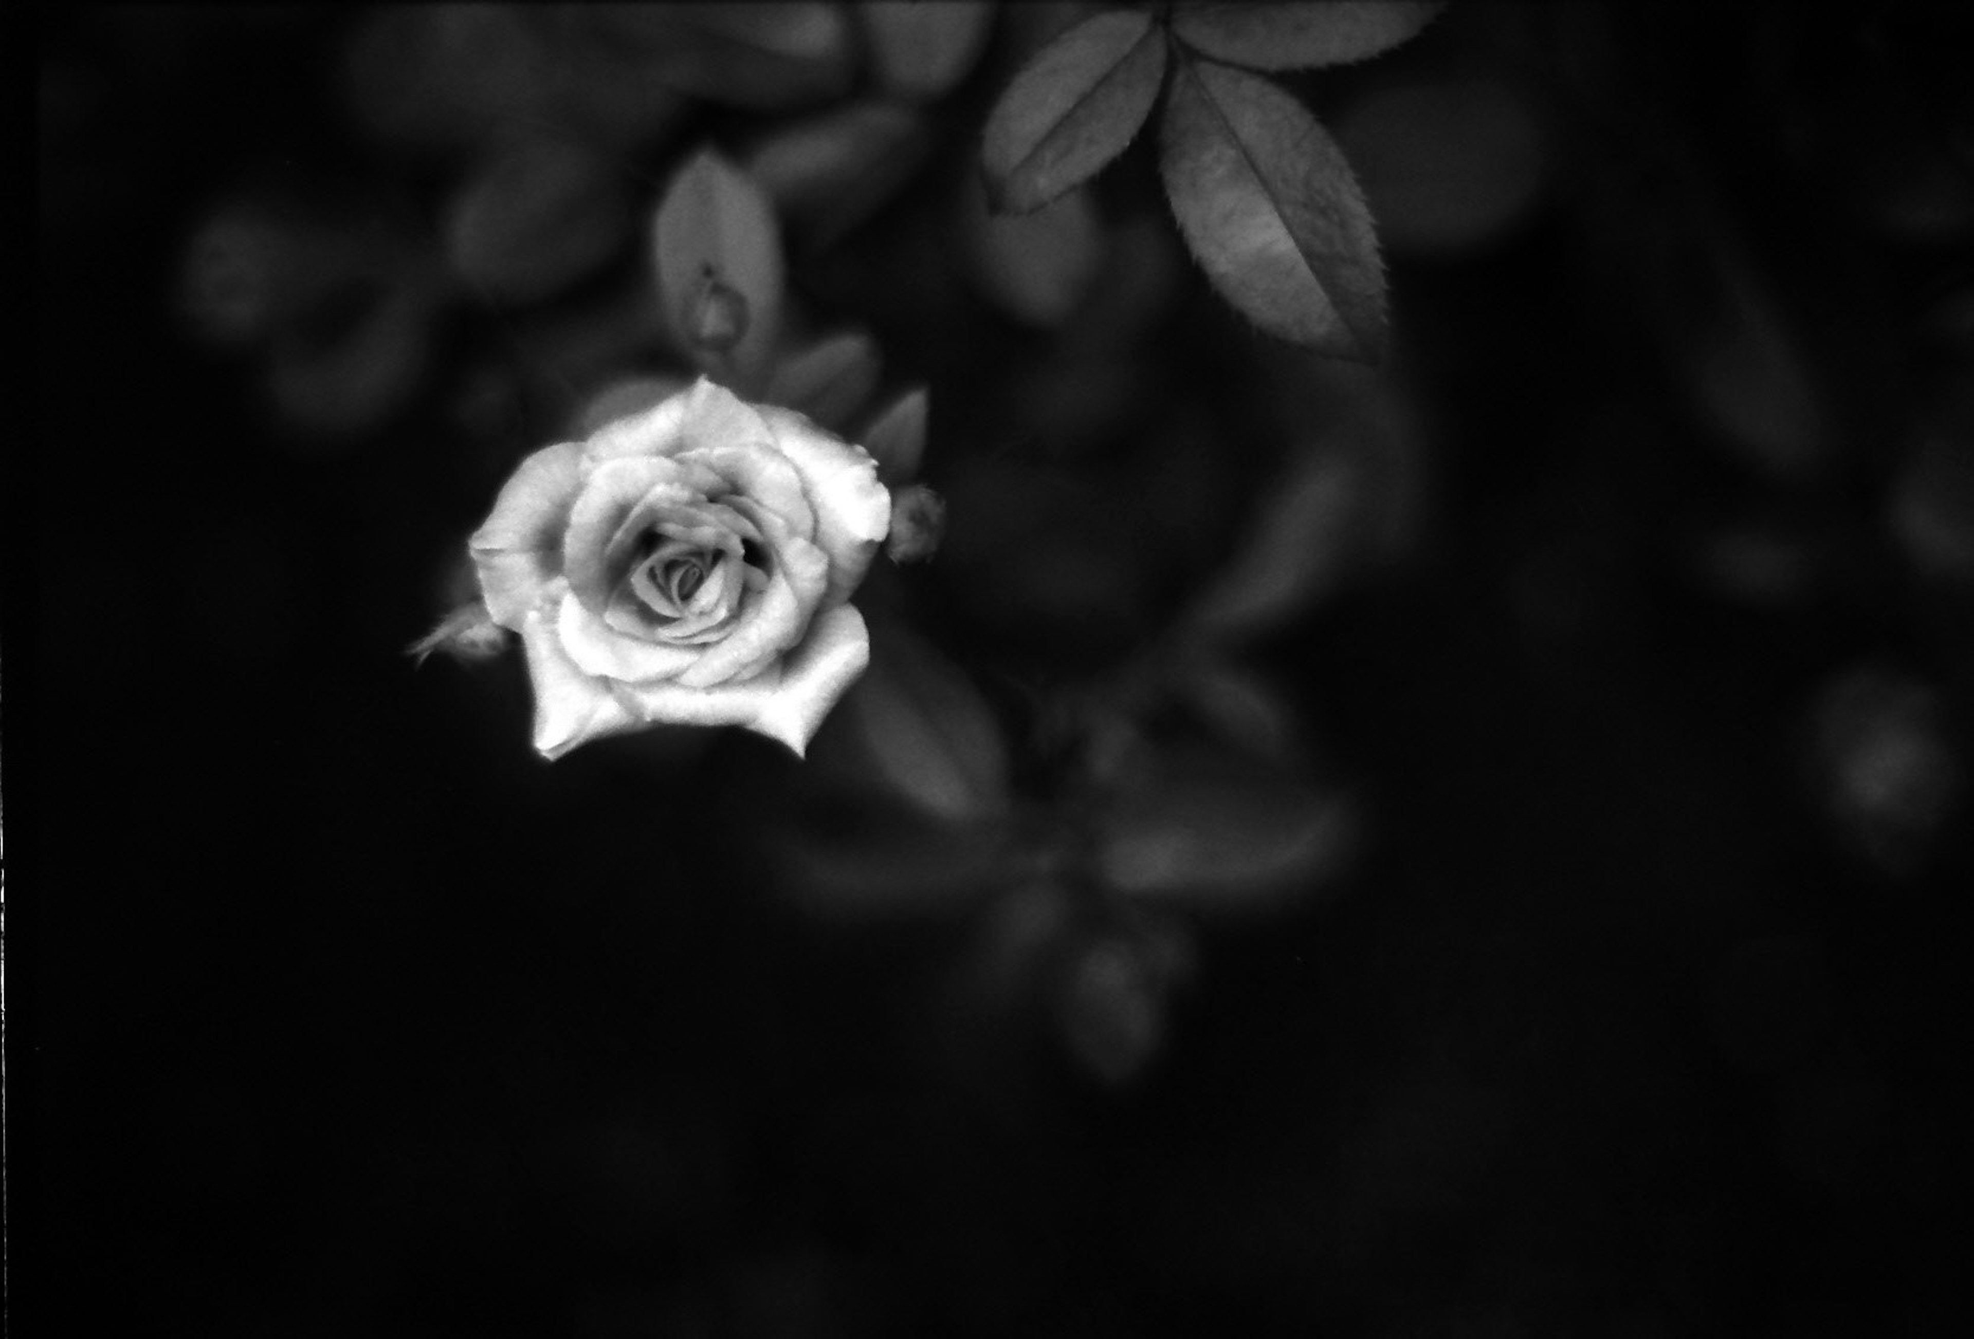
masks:
POLYGON ((1173 14, 1173 32, 1218 61, 1315 69, 1382 55, 1409 41, 1439 10, 1437 0, 1188 4, 1173 14))

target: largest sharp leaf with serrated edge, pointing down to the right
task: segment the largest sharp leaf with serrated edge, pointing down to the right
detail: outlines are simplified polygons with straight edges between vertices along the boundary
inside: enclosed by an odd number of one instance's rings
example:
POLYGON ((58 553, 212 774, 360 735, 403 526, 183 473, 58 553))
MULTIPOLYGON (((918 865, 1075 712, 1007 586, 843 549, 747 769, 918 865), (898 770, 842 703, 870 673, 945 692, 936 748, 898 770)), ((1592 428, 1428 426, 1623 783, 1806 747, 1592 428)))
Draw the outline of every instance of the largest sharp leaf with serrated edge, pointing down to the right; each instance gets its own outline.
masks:
POLYGON ((1214 288, 1261 329, 1332 357, 1384 353, 1384 268, 1350 164, 1301 103, 1246 71, 1180 61, 1165 189, 1214 288))

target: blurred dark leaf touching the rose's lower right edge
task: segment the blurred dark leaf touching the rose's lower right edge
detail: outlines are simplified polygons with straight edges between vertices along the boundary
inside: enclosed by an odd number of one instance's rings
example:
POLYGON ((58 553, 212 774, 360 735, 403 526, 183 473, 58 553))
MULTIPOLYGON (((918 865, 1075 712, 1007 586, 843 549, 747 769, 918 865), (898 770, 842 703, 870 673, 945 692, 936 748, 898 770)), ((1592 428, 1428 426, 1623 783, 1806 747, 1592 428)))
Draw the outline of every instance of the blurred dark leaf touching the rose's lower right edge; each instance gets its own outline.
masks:
POLYGON ((967 676, 904 627, 873 637, 871 669, 837 708, 871 775, 948 824, 1007 809, 1007 745, 967 676))

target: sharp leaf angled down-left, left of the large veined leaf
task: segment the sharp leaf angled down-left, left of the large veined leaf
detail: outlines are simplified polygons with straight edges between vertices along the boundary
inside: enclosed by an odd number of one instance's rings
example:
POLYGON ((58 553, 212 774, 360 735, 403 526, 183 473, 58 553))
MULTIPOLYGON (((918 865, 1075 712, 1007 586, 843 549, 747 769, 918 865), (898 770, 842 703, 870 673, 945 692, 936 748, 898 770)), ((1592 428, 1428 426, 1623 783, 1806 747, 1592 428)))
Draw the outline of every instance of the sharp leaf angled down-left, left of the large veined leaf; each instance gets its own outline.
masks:
POLYGON ((995 213, 1040 209, 1123 152, 1165 79, 1165 34, 1141 12, 1098 14, 1009 83, 981 164, 995 213))

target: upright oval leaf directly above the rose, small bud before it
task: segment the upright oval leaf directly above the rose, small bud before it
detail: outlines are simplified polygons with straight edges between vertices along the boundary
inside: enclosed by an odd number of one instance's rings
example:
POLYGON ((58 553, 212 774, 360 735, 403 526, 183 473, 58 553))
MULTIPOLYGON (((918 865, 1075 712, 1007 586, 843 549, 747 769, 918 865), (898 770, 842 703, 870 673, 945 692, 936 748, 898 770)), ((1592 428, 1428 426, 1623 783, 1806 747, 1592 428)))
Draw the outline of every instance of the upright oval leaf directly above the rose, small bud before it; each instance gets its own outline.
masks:
MULTIPOLYGON (((673 176, 653 225, 665 327, 703 371, 762 371, 782 323, 782 235, 766 191, 719 152, 695 154, 673 176), (701 347, 705 319, 726 290, 744 329, 721 351, 701 347)), ((732 314, 728 308, 726 314, 732 314)))

